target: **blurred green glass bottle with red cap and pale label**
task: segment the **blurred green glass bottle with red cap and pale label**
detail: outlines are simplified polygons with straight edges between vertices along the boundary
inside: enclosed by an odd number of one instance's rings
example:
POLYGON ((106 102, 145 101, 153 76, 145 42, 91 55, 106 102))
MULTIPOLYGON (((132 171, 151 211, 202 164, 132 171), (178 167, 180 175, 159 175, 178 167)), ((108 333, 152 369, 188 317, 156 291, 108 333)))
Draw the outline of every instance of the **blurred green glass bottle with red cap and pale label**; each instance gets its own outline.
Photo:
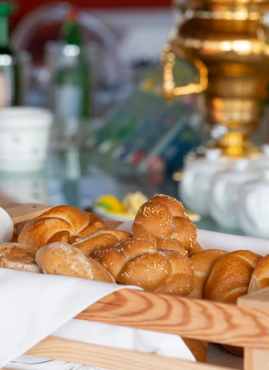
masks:
POLYGON ((63 24, 63 45, 54 79, 55 115, 66 127, 92 115, 90 66, 82 52, 77 17, 78 13, 71 11, 63 24))

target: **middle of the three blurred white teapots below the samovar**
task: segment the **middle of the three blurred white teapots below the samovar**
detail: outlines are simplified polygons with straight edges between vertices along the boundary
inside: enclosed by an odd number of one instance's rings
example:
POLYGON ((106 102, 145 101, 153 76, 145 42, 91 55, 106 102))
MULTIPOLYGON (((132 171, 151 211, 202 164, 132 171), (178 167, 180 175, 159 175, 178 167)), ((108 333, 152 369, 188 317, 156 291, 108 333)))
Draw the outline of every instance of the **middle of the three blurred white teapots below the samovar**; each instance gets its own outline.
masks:
POLYGON ((213 220, 224 228, 238 229, 238 198, 242 184, 258 180, 261 173, 249 168, 249 160, 233 162, 233 169, 218 173, 212 179, 210 188, 210 214, 213 220))

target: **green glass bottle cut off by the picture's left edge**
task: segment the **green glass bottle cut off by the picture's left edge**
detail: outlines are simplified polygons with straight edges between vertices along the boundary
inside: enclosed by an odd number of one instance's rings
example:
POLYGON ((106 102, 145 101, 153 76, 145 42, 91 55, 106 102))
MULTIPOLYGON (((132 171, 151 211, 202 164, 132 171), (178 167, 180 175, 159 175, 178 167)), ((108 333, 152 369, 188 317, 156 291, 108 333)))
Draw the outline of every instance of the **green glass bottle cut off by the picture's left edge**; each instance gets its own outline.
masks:
POLYGON ((0 2, 0 107, 18 105, 18 63, 9 43, 9 16, 13 7, 0 2))

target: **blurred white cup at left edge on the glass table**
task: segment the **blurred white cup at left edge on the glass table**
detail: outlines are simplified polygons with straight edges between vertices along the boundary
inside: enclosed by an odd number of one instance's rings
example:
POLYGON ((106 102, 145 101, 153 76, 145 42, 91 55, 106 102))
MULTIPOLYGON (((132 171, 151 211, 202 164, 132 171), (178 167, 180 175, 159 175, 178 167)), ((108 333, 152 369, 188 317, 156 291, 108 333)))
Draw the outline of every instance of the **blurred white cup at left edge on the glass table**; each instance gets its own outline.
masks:
POLYGON ((35 107, 0 110, 0 171, 38 171, 44 167, 53 115, 35 107))

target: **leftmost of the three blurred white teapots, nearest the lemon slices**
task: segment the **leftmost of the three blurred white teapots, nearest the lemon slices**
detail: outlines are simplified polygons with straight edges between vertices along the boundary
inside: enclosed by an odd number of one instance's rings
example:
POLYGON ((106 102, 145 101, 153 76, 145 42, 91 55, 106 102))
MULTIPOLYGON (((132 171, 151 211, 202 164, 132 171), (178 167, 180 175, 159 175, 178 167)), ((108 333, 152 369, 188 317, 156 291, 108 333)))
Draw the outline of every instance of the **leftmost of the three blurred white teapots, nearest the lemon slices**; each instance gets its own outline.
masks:
POLYGON ((187 162, 179 184, 179 197, 192 212, 209 215, 208 192, 215 173, 228 168, 229 161, 221 157, 221 149, 207 149, 205 158, 187 162))

